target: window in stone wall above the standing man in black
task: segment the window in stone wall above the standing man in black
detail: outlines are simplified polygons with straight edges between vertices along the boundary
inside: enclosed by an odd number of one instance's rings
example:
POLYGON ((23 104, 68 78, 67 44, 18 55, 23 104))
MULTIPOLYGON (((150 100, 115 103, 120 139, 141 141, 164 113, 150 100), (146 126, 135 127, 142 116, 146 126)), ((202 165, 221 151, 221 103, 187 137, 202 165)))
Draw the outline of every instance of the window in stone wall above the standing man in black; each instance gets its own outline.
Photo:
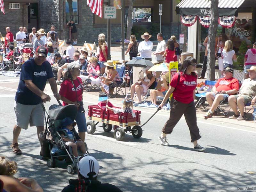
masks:
POLYGON ((78 24, 78 2, 77 0, 66 0, 66 23, 70 20, 74 20, 75 24, 78 24))

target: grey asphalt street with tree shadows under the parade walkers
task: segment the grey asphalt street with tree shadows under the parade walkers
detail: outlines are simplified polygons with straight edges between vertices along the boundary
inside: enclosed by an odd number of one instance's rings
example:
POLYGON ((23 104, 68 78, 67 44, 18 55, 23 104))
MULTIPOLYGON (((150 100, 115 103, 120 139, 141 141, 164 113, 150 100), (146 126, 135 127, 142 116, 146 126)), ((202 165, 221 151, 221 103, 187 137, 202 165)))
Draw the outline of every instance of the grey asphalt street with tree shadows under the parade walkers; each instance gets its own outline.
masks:
MULTIPOLYGON (((46 165, 39 155, 35 127, 21 131, 19 145, 23 154, 12 153, 13 103, 19 77, 1 75, 0 78, 1 156, 17 162, 16 177, 32 177, 44 191, 61 191, 69 179, 77 176, 68 174, 65 161, 58 162, 54 168, 46 165)), ((45 92, 52 98, 45 104, 48 110, 57 102, 49 84, 45 92)), ((95 95, 84 93, 84 107, 96 104, 97 99, 95 95)), ((121 106, 118 100, 110 101, 121 106)), ((141 124, 156 111, 156 108, 134 109, 141 110, 141 124)), ((98 179, 123 191, 256 191, 255 123, 220 118, 204 120, 199 114, 197 123, 202 138, 198 142, 207 149, 196 152, 184 117, 167 137, 170 146, 160 144, 158 136, 169 113, 160 110, 143 126, 140 139, 127 133, 123 141, 116 141, 113 131, 107 133, 101 127, 96 128, 93 135, 86 134, 89 152, 100 164, 98 179), (251 190, 246 190, 248 188, 251 190)))

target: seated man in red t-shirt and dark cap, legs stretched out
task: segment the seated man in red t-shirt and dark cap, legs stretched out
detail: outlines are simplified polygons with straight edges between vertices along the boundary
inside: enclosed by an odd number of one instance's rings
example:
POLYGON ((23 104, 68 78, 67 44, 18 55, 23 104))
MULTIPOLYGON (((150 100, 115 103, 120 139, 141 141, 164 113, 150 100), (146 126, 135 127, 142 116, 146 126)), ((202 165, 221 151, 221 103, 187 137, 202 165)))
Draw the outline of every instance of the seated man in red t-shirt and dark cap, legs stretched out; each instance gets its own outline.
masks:
POLYGON ((206 93, 206 100, 211 108, 204 115, 204 119, 217 115, 215 109, 219 106, 220 102, 225 101, 229 95, 234 95, 239 90, 239 82, 233 77, 233 69, 227 67, 223 71, 224 77, 218 79, 212 88, 212 92, 206 93))

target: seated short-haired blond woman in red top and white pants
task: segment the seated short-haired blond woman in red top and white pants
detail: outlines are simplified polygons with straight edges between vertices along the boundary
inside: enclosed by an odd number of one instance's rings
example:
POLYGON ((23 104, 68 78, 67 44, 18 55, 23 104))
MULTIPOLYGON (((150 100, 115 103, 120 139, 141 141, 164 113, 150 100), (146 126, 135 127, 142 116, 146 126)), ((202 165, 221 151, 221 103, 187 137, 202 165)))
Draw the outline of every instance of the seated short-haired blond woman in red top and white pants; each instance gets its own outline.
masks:
POLYGON ((91 57, 91 64, 87 66, 88 76, 80 75, 79 77, 82 81, 87 81, 88 84, 100 84, 100 65, 98 63, 98 59, 96 57, 91 57))

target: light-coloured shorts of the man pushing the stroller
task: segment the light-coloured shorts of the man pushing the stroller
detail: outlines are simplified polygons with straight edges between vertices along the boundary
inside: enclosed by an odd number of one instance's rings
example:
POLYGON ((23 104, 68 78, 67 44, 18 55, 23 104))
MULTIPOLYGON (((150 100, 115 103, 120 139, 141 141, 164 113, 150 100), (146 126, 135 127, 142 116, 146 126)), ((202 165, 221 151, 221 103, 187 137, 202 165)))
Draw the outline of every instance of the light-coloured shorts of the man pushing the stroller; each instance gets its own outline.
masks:
POLYGON ((14 101, 15 123, 22 129, 30 127, 44 127, 44 111, 41 103, 37 105, 23 105, 14 101))

